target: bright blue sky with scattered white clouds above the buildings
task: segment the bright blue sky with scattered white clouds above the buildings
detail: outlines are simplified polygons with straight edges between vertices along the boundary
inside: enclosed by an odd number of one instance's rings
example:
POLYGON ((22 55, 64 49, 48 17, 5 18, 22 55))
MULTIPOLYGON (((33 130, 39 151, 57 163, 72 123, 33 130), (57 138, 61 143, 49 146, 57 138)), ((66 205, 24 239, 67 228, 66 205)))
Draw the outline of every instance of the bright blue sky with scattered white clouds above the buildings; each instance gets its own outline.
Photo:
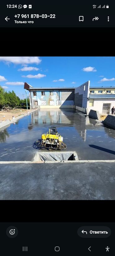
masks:
POLYGON ((0 57, 0 85, 25 98, 33 87, 115 86, 115 57, 0 57), (28 91, 27 91, 27 94, 28 91))

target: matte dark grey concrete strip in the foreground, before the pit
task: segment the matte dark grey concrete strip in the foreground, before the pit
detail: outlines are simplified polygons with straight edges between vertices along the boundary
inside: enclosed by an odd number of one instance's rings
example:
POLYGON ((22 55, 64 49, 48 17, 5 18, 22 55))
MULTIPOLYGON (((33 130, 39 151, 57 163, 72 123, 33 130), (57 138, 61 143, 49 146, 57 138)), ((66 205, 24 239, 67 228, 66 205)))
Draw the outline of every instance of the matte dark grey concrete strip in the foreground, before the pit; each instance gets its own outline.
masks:
POLYGON ((114 166, 1 164, 0 200, 115 200, 114 166))

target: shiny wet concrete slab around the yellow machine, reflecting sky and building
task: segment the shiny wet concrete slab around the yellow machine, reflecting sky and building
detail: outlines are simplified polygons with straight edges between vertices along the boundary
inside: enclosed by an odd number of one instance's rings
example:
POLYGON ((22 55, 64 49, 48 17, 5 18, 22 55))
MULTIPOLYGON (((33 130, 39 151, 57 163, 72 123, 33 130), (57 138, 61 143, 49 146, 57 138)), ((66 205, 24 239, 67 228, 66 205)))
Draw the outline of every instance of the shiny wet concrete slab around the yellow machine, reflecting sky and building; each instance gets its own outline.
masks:
POLYGON ((36 153, 34 141, 40 139, 49 126, 57 127, 67 145, 66 151, 76 151, 79 160, 115 158, 111 152, 114 151, 114 129, 97 125, 94 119, 77 110, 42 109, 0 130, 0 161, 31 161, 36 153))

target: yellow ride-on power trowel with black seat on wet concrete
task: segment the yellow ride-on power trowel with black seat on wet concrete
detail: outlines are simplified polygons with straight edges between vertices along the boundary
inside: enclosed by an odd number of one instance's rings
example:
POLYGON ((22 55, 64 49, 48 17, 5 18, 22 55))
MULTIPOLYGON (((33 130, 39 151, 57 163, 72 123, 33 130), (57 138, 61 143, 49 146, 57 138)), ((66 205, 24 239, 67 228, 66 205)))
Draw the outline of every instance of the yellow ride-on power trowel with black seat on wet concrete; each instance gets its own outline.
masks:
POLYGON ((36 141, 36 145, 40 148, 66 149, 67 145, 63 142, 63 137, 57 132, 57 128, 51 126, 47 134, 42 134, 42 139, 36 141))

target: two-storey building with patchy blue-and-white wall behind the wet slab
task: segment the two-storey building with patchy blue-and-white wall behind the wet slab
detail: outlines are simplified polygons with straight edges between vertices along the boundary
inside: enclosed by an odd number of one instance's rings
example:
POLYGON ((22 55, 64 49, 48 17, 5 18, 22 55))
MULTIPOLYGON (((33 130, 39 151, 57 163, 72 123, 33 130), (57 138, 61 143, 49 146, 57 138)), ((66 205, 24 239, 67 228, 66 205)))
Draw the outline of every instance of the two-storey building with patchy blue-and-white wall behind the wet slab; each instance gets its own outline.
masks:
POLYGON ((30 109, 33 108, 73 108, 75 88, 31 88, 25 83, 30 94, 30 109))

